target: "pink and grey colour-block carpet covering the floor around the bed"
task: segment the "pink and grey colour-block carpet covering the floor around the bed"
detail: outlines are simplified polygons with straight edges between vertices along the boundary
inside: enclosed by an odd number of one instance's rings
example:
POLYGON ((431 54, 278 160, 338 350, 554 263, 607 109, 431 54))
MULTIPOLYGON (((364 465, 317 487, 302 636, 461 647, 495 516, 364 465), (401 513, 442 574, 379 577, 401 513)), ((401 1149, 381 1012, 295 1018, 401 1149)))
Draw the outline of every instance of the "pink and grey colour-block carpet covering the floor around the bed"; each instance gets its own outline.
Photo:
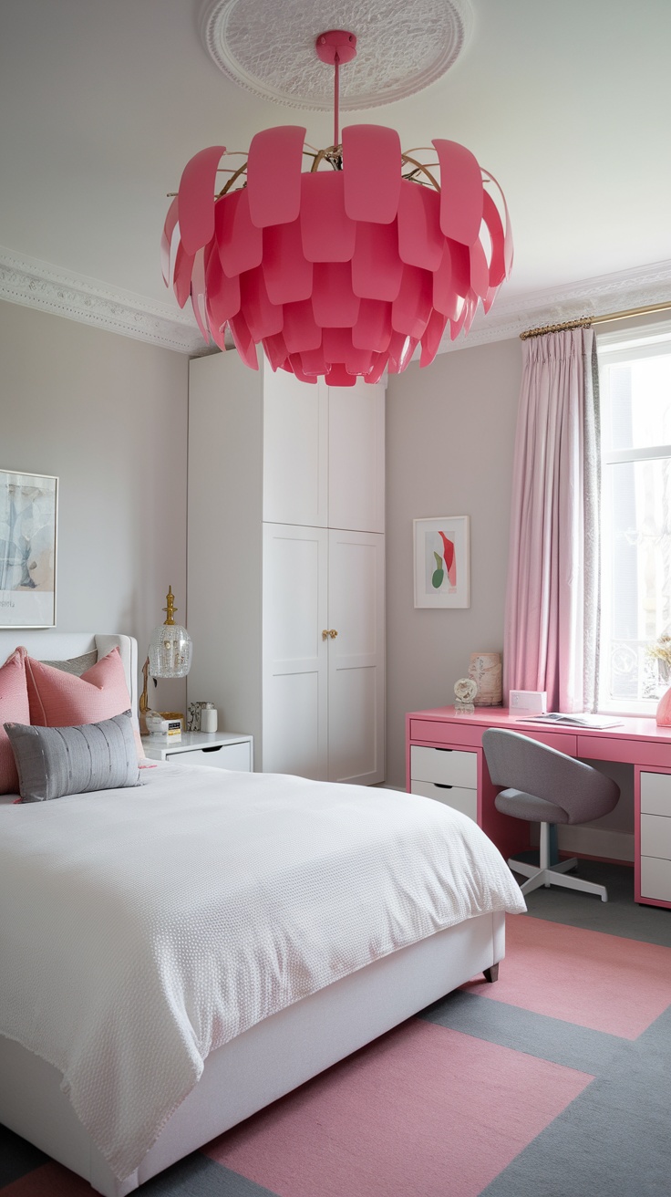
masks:
MULTIPOLYGON (((494 985, 474 978, 141 1197, 667 1197, 671 911, 636 907, 630 870, 608 883, 608 906, 531 895, 494 985)), ((0 1130, 0 1197, 91 1193, 0 1130)))

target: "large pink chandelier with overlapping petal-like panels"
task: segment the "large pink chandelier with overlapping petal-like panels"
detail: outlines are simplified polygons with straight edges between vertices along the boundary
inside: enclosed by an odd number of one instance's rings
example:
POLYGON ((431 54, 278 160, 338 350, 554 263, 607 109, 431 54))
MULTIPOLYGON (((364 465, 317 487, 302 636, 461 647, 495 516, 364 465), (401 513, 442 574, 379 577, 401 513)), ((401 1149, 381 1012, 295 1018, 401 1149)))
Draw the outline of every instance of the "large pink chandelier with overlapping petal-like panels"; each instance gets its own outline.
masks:
POLYGON ((231 170, 225 146, 201 150, 165 220, 163 274, 205 340, 224 348, 228 328, 252 370, 262 345, 273 370, 350 387, 399 373, 417 346, 420 365, 433 361, 447 324, 455 340, 478 304, 489 311, 513 247, 505 196, 470 150, 434 139, 425 165, 380 124, 341 139, 340 66, 356 38, 333 30, 316 48, 335 67, 333 146, 315 151, 286 124, 257 133, 231 170))

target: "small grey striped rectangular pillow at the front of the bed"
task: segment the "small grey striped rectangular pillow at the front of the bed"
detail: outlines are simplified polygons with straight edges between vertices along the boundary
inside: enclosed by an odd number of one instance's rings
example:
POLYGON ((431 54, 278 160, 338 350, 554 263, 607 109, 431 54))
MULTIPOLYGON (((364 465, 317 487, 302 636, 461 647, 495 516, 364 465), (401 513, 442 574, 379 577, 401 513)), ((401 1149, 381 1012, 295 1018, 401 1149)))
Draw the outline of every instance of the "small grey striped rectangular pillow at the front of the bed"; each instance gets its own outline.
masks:
POLYGON ((74 728, 5 723, 22 802, 140 785, 130 711, 74 728))

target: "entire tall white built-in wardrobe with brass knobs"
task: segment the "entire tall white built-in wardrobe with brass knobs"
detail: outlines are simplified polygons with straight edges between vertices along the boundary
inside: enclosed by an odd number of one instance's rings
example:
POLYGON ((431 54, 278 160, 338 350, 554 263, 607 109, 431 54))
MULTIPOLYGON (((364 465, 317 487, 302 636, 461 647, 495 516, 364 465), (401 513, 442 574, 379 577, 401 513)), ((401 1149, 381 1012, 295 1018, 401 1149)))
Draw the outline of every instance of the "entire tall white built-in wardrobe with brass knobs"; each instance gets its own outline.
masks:
POLYGON ((255 768, 384 780, 384 388, 189 371, 188 700, 255 768))

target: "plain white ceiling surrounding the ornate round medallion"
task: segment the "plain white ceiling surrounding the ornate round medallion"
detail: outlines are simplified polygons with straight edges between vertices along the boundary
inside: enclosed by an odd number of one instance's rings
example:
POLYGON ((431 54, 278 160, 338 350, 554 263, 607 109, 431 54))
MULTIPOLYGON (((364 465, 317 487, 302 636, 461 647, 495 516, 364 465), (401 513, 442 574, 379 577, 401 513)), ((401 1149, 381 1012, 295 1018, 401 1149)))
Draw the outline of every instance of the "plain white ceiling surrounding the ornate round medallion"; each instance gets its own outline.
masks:
MULTIPOLYGON (((272 54, 282 0, 267 8, 272 54)), ((638 285, 649 273, 671 297, 670 0, 471 8, 443 79, 344 123, 392 124, 404 147, 462 141, 499 178, 516 261, 492 315, 622 272, 638 285)), ((377 10, 407 22, 413 0, 377 10)), ((5 263, 45 263, 177 315, 158 247, 185 162, 207 145, 246 148, 272 124, 305 123, 313 145, 330 144, 328 113, 260 99, 221 73, 200 17, 201 0, 0 0, 5 263)), ((360 37, 358 66, 365 53, 360 37)))

